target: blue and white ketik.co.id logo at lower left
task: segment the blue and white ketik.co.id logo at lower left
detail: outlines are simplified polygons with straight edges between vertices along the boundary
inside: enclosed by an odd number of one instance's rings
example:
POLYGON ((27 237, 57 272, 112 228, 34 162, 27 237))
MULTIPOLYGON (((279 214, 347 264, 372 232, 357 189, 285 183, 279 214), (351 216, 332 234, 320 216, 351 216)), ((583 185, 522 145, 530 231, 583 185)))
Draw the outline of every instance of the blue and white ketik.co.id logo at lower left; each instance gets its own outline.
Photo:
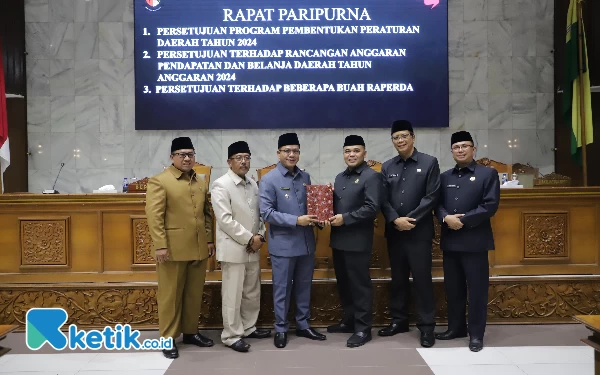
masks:
POLYGON ((109 350, 160 350, 172 349, 173 339, 146 339, 139 341, 140 331, 131 330, 129 324, 106 326, 102 331, 81 331, 75 324, 69 325, 68 334, 61 328, 68 320, 68 314, 61 308, 33 308, 25 317, 25 340, 31 350, 39 350, 48 343, 56 350, 106 348, 109 350))

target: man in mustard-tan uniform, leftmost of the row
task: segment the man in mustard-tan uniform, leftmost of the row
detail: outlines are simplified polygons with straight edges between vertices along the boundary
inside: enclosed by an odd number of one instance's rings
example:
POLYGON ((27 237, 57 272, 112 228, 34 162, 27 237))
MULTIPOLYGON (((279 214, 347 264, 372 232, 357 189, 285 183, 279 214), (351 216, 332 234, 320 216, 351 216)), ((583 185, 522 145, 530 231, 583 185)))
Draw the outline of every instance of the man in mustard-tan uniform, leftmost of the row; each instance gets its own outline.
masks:
POLYGON ((206 181, 192 169, 196 152, 190 138, 173 140, 171 160, 169 168, 148 181, 146 216, 157 262, 160 336, 173 338, 173 348, 163 355, 174 359, 179 356, 175 339, 181 333, 184 344, 214 345, 198 332, 198 319, 215 245, 206 181))

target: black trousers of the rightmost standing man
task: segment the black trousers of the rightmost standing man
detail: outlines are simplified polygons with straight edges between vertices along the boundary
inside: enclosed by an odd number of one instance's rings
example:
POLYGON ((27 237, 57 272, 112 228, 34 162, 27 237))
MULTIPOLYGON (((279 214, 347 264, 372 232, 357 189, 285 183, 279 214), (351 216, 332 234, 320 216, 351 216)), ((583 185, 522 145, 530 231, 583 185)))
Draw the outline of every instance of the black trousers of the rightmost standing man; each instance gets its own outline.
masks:
POLYGON ((489 287, 488 252, 444 251, 444 287, 448 299, 448 329, 466 332, 467 291, 469 334, 483 339, 489 287))

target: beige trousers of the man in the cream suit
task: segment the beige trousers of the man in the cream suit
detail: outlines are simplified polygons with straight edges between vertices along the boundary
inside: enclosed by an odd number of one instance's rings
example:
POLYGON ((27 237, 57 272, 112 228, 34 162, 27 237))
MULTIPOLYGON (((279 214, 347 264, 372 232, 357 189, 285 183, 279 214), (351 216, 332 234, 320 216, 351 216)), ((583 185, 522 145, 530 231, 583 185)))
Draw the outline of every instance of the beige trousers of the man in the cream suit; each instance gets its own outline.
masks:
POLYGON ((256 320, 260 311, 260 263, 222 262, 221 269, 221 341, 230 346, 256 330, 256 320))

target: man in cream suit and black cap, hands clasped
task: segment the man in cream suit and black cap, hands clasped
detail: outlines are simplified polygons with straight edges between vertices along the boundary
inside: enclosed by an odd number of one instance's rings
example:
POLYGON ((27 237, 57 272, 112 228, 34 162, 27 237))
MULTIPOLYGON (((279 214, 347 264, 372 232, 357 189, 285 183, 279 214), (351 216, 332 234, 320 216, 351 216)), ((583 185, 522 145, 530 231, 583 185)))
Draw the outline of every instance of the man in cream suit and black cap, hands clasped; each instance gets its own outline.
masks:
POLYGON ((221 262, 223 332, 221 341, 237 352, 250 349, 244 338, 267 338, 270 330, 256 328, 260 311, 260 248, 265 224, 258 209, 258 186, 246 177, 250 148, 244 141, 227 149, 229 170, 213 183, 217 222, 217 260, 221 262))

